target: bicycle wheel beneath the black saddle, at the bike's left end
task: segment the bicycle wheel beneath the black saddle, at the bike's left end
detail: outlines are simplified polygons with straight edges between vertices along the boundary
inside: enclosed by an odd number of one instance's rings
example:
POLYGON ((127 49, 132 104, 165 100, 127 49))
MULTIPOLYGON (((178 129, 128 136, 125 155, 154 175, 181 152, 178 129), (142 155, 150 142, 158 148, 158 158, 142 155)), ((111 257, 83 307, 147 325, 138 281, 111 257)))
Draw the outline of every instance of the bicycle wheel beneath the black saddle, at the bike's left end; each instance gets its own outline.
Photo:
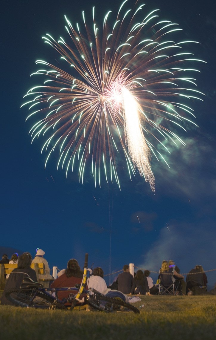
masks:
POLYGON ((11 301, 15 306, 20 307, 35 307, 35 308, 50 308, 55 306, 57 309, 67 309, 63 304, 56 302, 51 296, 43 292, 37 291, 35 297, 35 290, 22 290, 20 288, 8 289, 5 292, 5 297, 11 301))

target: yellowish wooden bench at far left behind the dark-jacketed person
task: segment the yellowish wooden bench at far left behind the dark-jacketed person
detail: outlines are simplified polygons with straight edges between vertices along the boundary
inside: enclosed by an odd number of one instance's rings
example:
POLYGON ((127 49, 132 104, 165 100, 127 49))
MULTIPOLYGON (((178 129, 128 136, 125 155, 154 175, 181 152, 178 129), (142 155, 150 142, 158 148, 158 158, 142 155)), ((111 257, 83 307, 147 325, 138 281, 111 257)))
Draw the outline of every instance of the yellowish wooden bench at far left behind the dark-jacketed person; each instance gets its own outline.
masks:
MULTIPOLYGON (((12 270, 17 268, 17 263, 4 263, 0 264, 0 289, 4 289, 6 279, 5 275, 11 274, 12 270)), ((53 278, 39 278, 39 274, 45 273, 44 263, 32 263, 31 268, 35 270, 38 282, 52 281, 53 278)), ((43 283, 44 284, 44 283, 43 283)), ((44 284, 44 286, 47 286, 44 284)))

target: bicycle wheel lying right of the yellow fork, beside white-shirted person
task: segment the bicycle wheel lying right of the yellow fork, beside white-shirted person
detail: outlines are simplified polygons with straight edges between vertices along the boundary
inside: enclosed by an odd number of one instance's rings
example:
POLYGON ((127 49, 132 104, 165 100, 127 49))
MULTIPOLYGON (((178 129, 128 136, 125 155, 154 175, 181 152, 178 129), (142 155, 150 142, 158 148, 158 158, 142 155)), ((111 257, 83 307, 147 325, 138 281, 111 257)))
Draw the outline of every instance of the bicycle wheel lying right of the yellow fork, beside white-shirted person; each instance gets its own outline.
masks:
POLYGON ((115 297, 109 297, 102 294, 96 294, 93 296, 90 296, 89 299, 87 299, 87 303, 93 306, 94 308, 97 308, 99 310, 104 310, 106 312, 112 312, 112 311, 133 311, 134 313, 139 314, 140 311, 138 308, 133 306, 130 303, 127 303, 119 298, 115 297))

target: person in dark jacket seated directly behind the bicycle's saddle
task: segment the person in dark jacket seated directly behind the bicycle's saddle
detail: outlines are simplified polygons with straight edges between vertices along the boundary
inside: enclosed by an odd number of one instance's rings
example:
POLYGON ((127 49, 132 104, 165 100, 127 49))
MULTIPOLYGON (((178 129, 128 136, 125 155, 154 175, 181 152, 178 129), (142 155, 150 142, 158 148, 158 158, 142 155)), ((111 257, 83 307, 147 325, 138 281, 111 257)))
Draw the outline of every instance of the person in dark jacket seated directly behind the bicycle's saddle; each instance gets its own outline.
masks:
POLYGON ((20 255, 17 269, 12 270, 7 279, 3 294, 0 299, 2 305, 13 305, 12 302, 6 299, 5 291, 11 288, 20 288, 24 277, 30 277, 33 281, 37 282, 36 272, 30 267, 31 263, 32 255, 30 253, 23 253, 20 255))

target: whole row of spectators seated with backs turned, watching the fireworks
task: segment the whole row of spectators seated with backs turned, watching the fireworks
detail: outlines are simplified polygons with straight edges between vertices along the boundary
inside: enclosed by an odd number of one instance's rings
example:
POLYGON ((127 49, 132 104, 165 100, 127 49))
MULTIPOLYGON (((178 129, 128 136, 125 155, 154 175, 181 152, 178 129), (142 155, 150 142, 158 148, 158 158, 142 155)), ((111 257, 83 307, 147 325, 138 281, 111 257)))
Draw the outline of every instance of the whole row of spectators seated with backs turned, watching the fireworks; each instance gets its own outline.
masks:
MULTIPOLYGON (((24 277, 30 277, 33 281, 37 282, 36 272, 30 267, 31 263, 43 262, 45 265, 45 277, 51 276, 48 262, 43 257, 44 254, 45 252, 42 249, 37 249, 34 259, 32 259, 32 255, 28 252, 23 253, 19 257, 17 253, 13 254, 11 263, 18 263, 18 267, 14 269, 7 277, 6 285, 0 299, 1 304, 12 304, 6 299, 4 292, 7 289, 19 288, 24 277)), ((7 255, 4 254, 0 263, 8 262, 9 259, 7 255)), ((67 263, 67 268, 62 270, 60 273, 61 274, 58 275, 56 279, 51 276, 53 281, 48 282, 48 285, 50 285, 51 289, 56 287, 75 287, 76 284, 80 284, 82 282, 83 271, 80 269, 79 264, 75 259, 70 259, 67 263)), ((124 265, 123 272, 118 275, 116 281, 107 289, 106 282, 103 278, 103 270, 100 267, 96 267, 93 270, 92 275, 87 280, 87 287, 94 288, 103 294, 107 294, 107 292, 113 289, 123 293, 125 296, 126 294, 141 294, 150 296, 158 294, 158 286, 161 284, 161 282, 154 284, 152 278, 149 275, 149 270, 145 270, 144 272, 142 270, 138 270, 133 277, 133 275, 130 273, 129 265, 124 265)), ((162 284, 165 286, 169 285, 172 279, 176 287, 176 294, 196 295, 202 293, 204 294, 207 291, 207 276, 204 273, 203 267, 200 265, 196 265, 194 269, 191 269, 191 271, 186 276, 185 282, 184 276, 180 274, 180 269, 175 265, 175 262, 173 260, 170 260, 169 262, 163 260, 159 270, 159 278, 160 280, 161 278, 165 280, 165 282, 162 282, 162 284)), ((74 291, 74 293, 76 293, 76 291, 74 291)), ((209 293, 215 294, 216 286, 209 293)), ((68 292, 62 291, 59 292, 58 299, 66 299, 67 296, 68 292)))

